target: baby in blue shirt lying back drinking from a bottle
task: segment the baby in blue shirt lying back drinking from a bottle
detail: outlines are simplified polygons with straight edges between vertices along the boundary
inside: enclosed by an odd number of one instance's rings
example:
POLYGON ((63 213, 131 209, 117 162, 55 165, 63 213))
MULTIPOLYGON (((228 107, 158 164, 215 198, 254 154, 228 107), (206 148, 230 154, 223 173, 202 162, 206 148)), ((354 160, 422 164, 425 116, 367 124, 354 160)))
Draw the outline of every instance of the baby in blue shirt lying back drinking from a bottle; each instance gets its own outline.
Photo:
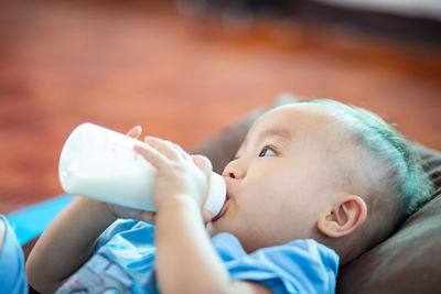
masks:
POLYGON ((228 200, 215 220, 202 209, 209 161, 157 138, 146 143, 135 149, 158 168, 158 211, 75 198, 28 260, 33 287, 333 293, 338 265, 390 236, 432 189, 390 126, 332 100, 257 120, 224 170, 228 200))

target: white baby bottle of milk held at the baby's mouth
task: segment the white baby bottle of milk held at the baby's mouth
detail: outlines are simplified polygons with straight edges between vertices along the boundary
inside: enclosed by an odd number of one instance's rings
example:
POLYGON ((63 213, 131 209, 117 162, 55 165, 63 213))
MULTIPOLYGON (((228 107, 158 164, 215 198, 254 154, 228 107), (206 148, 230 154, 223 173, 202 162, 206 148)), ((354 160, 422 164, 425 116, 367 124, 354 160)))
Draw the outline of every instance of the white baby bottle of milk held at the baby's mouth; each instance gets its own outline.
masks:
MULTIPOLYGON (((155 167, 135 152, 143 142, 93 123, 79 124, 67 138, 60 157, 63 189, 121 206, 155 210, 155 167)), ((212 173, 204 207, 215 218, 226 198, 224 178, 212 173)))

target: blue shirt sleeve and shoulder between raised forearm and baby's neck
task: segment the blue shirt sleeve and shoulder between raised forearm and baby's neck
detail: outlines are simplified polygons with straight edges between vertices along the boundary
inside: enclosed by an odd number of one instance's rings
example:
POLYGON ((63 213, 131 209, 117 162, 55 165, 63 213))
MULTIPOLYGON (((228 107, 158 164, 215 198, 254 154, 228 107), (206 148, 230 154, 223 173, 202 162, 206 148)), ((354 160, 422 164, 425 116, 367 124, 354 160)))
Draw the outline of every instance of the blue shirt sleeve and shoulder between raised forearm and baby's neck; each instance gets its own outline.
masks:
POLYGON ((255 281, 275 293, 334 293, 335 251, 314 240, 295 240, 247 254, 230 233, 212 239, 233 280, 255 281))

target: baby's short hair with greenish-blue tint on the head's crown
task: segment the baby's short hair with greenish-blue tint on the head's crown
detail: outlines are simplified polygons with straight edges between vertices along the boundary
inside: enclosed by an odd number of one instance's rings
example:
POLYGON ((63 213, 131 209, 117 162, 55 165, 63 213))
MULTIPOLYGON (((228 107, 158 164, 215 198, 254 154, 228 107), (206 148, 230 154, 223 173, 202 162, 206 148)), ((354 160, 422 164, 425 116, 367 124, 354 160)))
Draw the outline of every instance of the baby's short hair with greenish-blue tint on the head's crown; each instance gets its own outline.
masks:
MULTIPOLYGON (((411 144, 392 126, 379 116, 363 108, 344 105, 329 99, 302 100, 300 104, 327 106, 331 113, 343 121, 349 122, 351 142, 368 151, 383 168, 380 183, 373 183, 381 187, 376 197, 389 197, 395 204, 395 216, 384 216, 392 221, 395 229, 418 207, 427 202, 433 184, 422 168, 421 160, 411 144), (394 219, 395 218, 395 219, 394 219)), ((376 199, 369 199, 375 203, 376 199)), ((378 199, 377 199, 378 200, 378 199)), ((384 199, 379 199, 385 203, 384 199)), ((375 206, 375 204, 372 204, 375 206)))

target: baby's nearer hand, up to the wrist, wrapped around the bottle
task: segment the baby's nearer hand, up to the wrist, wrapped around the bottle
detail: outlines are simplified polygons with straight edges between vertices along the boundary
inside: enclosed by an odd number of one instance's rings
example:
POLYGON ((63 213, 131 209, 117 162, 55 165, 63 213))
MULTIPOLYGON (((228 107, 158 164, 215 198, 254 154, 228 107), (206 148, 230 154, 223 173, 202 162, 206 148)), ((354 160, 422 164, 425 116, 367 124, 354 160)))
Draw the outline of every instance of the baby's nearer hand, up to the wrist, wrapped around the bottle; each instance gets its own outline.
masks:
MULTIPOLYGON (((159 138, 146 138, 147 148, 135 150, 157 168, 153 205, 169 197, 191 197, 202 208, 208 192, 212 164, 202 155, 191 156, 179 145, 159 138)), ((204 214, 204 219, 207 218, 204 214)))

